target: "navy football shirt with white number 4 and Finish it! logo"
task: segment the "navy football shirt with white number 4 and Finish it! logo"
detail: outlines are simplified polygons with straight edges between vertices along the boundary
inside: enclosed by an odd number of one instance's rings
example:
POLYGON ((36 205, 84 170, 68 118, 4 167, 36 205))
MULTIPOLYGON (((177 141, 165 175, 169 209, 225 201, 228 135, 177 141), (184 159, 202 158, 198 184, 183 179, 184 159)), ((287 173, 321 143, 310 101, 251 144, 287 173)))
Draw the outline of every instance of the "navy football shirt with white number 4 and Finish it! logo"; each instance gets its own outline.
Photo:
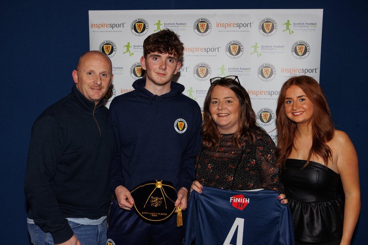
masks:
POLYGON ((191 193, 184 245, 294 245, 290 208, 276 191, 204 187, 191 193))

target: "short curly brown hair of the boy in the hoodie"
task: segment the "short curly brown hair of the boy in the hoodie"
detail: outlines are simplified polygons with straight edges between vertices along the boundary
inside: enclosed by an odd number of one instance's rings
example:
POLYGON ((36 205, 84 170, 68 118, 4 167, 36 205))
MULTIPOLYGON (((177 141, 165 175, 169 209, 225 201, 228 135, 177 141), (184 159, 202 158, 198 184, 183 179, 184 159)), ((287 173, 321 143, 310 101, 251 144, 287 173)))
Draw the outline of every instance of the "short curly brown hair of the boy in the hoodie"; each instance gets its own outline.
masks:
POLYGON ((180 42, 179 35, 169 29, 149 35, 143 42, 143 55, 158 52, 160 54, 170 54, 177 58, 184 54, 184 44, 180 42))

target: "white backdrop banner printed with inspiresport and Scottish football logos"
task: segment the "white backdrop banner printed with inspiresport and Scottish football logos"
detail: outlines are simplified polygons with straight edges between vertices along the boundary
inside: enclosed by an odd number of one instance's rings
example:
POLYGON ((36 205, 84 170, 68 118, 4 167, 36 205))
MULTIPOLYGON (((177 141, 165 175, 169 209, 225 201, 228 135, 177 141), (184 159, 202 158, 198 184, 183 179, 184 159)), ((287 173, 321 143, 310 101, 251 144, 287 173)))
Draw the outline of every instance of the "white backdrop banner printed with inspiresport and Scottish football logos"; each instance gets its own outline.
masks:
POLYGON ((113 63, 114 79, 105 95, 109 107, 114 97, 133 90, 134 80, 145 77, 139 61, 144 39, 173 30, 185 47, 173 78, 185 86, 184 94, 203 108, 210 78, 238 76, 259 125, 275 140, 283 82, 296 75, 319 81, 322 16, 322 9, 89 11, 89 45, 113 63))

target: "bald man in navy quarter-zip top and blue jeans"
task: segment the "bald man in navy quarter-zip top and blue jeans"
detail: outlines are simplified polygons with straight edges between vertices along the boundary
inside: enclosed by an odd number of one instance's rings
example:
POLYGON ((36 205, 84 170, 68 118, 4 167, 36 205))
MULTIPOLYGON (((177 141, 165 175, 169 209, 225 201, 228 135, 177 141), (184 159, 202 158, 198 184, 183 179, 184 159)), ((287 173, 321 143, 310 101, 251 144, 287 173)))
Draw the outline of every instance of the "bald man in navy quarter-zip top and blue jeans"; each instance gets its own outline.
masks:
POLYGON ((68 96, 32 127, 24 192, 32 244, 105 245, 114 140, 103 96, 113 79, 105 54, 89 51, 68 96))

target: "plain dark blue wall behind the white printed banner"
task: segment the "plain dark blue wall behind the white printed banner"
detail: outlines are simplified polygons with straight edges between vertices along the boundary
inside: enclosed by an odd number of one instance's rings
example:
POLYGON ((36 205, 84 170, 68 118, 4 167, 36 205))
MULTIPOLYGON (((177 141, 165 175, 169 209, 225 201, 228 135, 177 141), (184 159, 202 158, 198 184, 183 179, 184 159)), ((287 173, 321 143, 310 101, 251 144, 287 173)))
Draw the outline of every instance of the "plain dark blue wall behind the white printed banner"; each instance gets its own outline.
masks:
MULTIPOLYGON (((367 244, 367 1, 20 1, 0 3, 2 48, 1 244, 30 244, 23 193, 33 121, 69 93, 71 72, 89 50, 88 10, 323 8, 320 83, 337 129, 359 157, 362 210, 353 244, 367 244), (163 5, 167 2, 167 5, 163 5), (280 3, 278 3, 280 2, 280 3), (139 3, 142 3, 139 5, 139 3)), ((164 15, 166 11, 162 11, 164 15)), ((328 219, 329 217, 326 217, 328 219)))

